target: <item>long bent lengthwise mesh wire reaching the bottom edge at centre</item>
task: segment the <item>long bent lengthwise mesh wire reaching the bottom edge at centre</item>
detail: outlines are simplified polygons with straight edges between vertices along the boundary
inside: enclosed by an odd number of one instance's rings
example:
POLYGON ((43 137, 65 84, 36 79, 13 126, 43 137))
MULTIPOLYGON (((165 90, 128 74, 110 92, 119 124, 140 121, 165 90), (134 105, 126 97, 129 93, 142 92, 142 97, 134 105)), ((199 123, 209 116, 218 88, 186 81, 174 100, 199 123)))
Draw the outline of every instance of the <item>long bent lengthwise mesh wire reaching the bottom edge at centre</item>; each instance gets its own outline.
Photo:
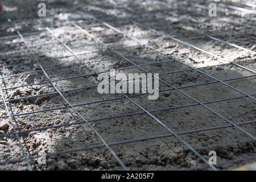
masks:
MULTIPOLYGON (((11 23, 11 19, 8 18, 9 22, 11 23)), ((16 30, 16 28, 15 28, 16 30)), ((19 30, 16 30, 17 34, 20 36, 20 38, 23 40, 23 43, 26 45, 28 51, 30 51, 31 56, 35 59, 36 63, 38 63, 40 69, 42 69, 44 75, 47 77, 47 79, 49 80, 49 82, 51 83, 51 85, 53 86, 53 88, 59 93, 59 95, 63 98, 63 100, 65 102, 67 102, 67 104, 75 111, 75 113, 77 115, 79 115, 79 117, 90 127, 90 129, 98 136, 98 138, 100 138, 100 140, 102 141, 102 143, 104 143, 104 145, 106 146, 106 148, 108 148, 108 150, 112 153, 112 155, 114 156, 114 158, 118 161, 118 163, 122 166, 123 169, 128 170, 128 168, 122 163, 121 159, 118 158, 117 154, 115 154, 115 152, 112 150, 112 148, 110 148, 110 146, 108 145, 108 143, 105 142, 105 140, 101 137, 101 135, 98 133, 98 131, 96 129, 94 129, 94 127, 92 127, 92 125, 90 125, 90 123, 79 113, 79 111, 77 111, 75 109, 75 107, 73 107, 73 105, 67 100, 67 98, 65 98, 63 96, 63 94, 59 91, 59 89, 56 88, 56 86, 53 84, 53 82, 51 81, 51 78, 49 78, 49 76, 47 75, 46 71, 44 70, 44 68, 42 67, 42 64, 40 63, 40 61, 38 60, 38 58, 34 55, 34 53, 32 52, 32 50, 30 49, 30 47, 27 45, 26 40, 24 40, 22 34, 20 34, 19 30)))

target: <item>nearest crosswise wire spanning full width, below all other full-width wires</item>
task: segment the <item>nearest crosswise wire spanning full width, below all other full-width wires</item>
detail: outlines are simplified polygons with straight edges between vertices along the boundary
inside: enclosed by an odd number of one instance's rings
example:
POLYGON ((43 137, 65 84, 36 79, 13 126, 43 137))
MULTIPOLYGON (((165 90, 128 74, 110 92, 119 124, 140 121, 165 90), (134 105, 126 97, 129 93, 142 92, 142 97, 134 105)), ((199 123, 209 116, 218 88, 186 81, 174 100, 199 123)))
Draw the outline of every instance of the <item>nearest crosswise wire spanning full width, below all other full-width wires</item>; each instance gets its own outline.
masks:
MULTIPOLYGON (((249 121, 249 122, 243 122, 243 123, 237 123, 237 125, 247 125, 250 123, 254 123, 256 121, 249 121)), ((191 134, 191 133, 197 133, 197 132, 201 132, 201 131, 208 131, 208 130, 216 130, 216 129, 224 129, 224 128, 228 128, 228 127, 234 127, 233 125, 226 125, 226 126, 216 126, 216 127, 209 127, 209 128, 205 128, 205 129, 197 129, 197 130, 190 130, 190 131, 184 131, 182 133, 177 133, 178 135, 185 135, 185 134, 191 134)), ((1 135, 0 135, 1 136, 1 135)), ((132 143, 132 142, 140 142, 140 141, 144 141, 144 140, 150 140, 150 139, 159 139, 159 138, 167 138, 167 137, 174 137, 174 135, 172 134, 168 134, 168 135, 157 135, 154 137, 145 137, 145 138, 137 138, 137 139, 130 139, 130 140, 123 140, 123 141, 119 141, 119 142, 114 142, 114 143, 109 143, 110 146, 115 146, 115 145, 119 145, 119 144, 126 144, 126 143, 132 143)), ((49 154, 46 154, 47 158, 49 156, 53 156, 53 155, 60 155, 60 154, 67 154, 70 152, 78 152, 78 151, 85 151, 85 150, 92 150, 94 148, 102 148, 105 147, 104 145, 98 145, 98 146, 89 146, 89 147, 81 147, 81 148, 75 148, 72 150, 65 150, 65 151, 59 151, 59 152, 52 152, 49 154)), ((36 157, 30 157, 29 159, 38 159, 40 156, 36 156, 36 157)), ((9 164, 9 163, 17 163, 17 162, 22 162, 24 161, 24 159, 13 159, 13 160, 7 160, 4 162, 0 162, 0 164, 9 164)), ((207 166, 207 165, 205 165, 207 166)), ((205 167, 204 168, 207 168, 205 167)))

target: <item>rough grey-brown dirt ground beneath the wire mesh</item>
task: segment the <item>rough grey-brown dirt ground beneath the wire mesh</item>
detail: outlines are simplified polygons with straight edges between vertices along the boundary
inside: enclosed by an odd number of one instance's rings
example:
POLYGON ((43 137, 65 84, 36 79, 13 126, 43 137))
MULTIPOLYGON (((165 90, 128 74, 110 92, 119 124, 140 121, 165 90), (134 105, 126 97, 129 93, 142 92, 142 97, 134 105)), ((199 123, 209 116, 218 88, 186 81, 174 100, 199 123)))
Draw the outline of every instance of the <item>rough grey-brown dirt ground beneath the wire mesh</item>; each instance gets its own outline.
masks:
MULTIPOLYGON (((15 32, 15 28, 20 30, 27 45, 46 69, 56 88, 65 91, 63 96, 72 105, 76 105, 75 109, 90 122, 107 143, 145 138, 110 146, 129 169, 180 170, 202 166, 205 163, 176 137, 164 136, 171 133, 150 115, 141 113, 142 110, 127 98, 102 101, 122 97, 122 95, 98 93, 97 85, 100 81, 86 67, 86 64, 97 72, 131 67, 115 71, 126 75, 144 72, 138 67, 132 67, 131 62, 142 65, 141 68, 150 73, 159 73, 159 78, 197 101, 209 102, 205 105, 229 121, 236 124, 251 121, 240 127, 255 136, 256 126, 253 122, 256 120, 255 100, 209 77, 227 80, 225 83, 233 88, 249 95, 255 94, 255 73, 229 62, 236 62, 243 67, 256 70, 256 55, 248 51, 249 49, 256 52, 255 14, 217 6, 217 17, 211 18, 205 15, 208 14, 208 10, 193 6, 208 7, 210 1, 166 0, 160 3, 141 0, 118 1, 119 3, 48 1, 47 16, 39 18, 37 15, 39 1, 27 0, 20 3, 20 1, 5 0, 1 2, 9 11, 7 15, 13 23, 6 21, 5 12, 0 15, 0 72, 3 80, 1 88, 5 100, 8 101, 10 114, 14 115, 12 118, 15 129, 30 130, 19 134, 26 155, 35 158, 40 155, 40 151, 50 154, 46 165, 39 164, 36 159, 30 160, 33 170, 121 170, 123 168, 106 147, 51 155, 53 152, 102 145, 102 142, 86 123, 76 123, 81 122, 82 119, 74 110, 66 107, 68 104, 49 83, 23 40, 15 32), (30 6, 27 6, 28 4, 30 6), (137 38, 141 43, 100 24, 101 22, 92 19, 92 16, 104 20, 126 35, 137 38), (198 22, 193 22, 193 19, 198 22), (221 56, 226 61, 138 26, 131 20, 221 56), (90 36, 73 26, 72 22, 104 42, 108 48, 113 48, 127 57, 130 62, 94 42, 90 36), (72 53, 46 30, 46 27, 49 27, 57 38, 78 54, 79 60, 75 59, 72 53), (36 33, 31 34, 31 32, 36 33), (204 35, 211 35, 247 50, 204 35), (142 43, 163 51, 164 55, 142 46, 142 43), (184 64, 174 61, 171 57, 184 64), (154 64, 143 65, 148 63, 154 64), (195 69, 191 70, 185 64, 199 68, 198 70, 206 74, 195 69), (185 69, 189 70, 185 71, 185 69), (232 78, 236 79, 228 80, 232 78), (94 86, 83 88, 91 85, 94 86), (128 115, 119 117, 125 114, 128 115), (69 123, 76 124, 68 125, 69 123), (35 130, 44 127, 48 128, 35 130), (150 138, 156 136, 160 137, 150 138)), ((221 1, 226 5, 250 9, 248 6, 239 4, 245 2, 251 1, 221 1)), ((109 75, 109 72, 103 74, 109 75)), ((138 96, 130 94, 130 98, 148 111, 168 108, 152 111, 151 114, 172 131, 181 134, 180 138, 205 159, 209 159, 209 151, 216 151, 218 169, 230 170, 255 161, 254 158, 221 164, 229 160, 254 156, 255 140, 236 127, 191 132, 230 124, 160 81, 159 90, 164 91, 159 92, 157 100, 148 100, 148 94, 138 96), (187 131, 188 133, 184 133, 187 131)), ((252 97, 256 98, 255 95, 252 97)), ((23 159, 24 156, 18 140, 13 135, 14 128, 2 98, 0 122, 1 126, 4 124, 9 126, 0 131, 0 170, 27 170, 26 161, 15 161, 23 159), (10 160, 14 162, 9 163, 10 160)))

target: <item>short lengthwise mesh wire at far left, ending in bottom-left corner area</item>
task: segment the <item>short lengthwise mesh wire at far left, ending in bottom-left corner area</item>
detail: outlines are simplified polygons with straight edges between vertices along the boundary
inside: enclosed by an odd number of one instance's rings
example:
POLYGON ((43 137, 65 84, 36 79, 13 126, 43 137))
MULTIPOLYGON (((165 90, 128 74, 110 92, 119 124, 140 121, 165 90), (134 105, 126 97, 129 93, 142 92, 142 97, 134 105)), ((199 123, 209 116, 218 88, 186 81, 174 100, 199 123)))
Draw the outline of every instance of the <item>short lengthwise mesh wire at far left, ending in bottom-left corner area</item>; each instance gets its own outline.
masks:
POLYGON ((10 119, 11 126, 13 126, 13 130, 14 130, 14 133, 15 133, 15 137, 16 137, 16 139, 18 140, 19 146, 20 146, 20 148, 21 148, 21 150, 22 150, 22 154, 23 154, 23 156, 24 156, 24 158, 25 158, 25 160, 26 160, 28 170, 29 170, 29 171, 32 171, 31 164, 30 164, 30 162, 29 162, 29 160, 28 160, 28 158, 27 158, 27 155, 26 155, 26 152, 25 152, 25 150, 24 150, 24 147, 22 146, 22 142, 20 142, 19 134, 18 134, 17 131, 16 131, 16 128, 15 128, 15 125, 14 125, 14 122, 13 122, 13 118, 11 118, 11 115, 10 115, 10 112, 9 112, 9 109, 8 109, 8 106, 7 106, 7 104, 6 104, 5 96, 3 95, 3 90, 2 90, 2 86, 1 86, 2 83, 3 83, 3 77, 2 77, 2 80, 0 81, 1 97, 2 97, 3 103, 5 104, 5 109, 6 109, 6 111, 7 111, 7 115, 8 115, 8 117, 9 117, 9 119, 10 119))

